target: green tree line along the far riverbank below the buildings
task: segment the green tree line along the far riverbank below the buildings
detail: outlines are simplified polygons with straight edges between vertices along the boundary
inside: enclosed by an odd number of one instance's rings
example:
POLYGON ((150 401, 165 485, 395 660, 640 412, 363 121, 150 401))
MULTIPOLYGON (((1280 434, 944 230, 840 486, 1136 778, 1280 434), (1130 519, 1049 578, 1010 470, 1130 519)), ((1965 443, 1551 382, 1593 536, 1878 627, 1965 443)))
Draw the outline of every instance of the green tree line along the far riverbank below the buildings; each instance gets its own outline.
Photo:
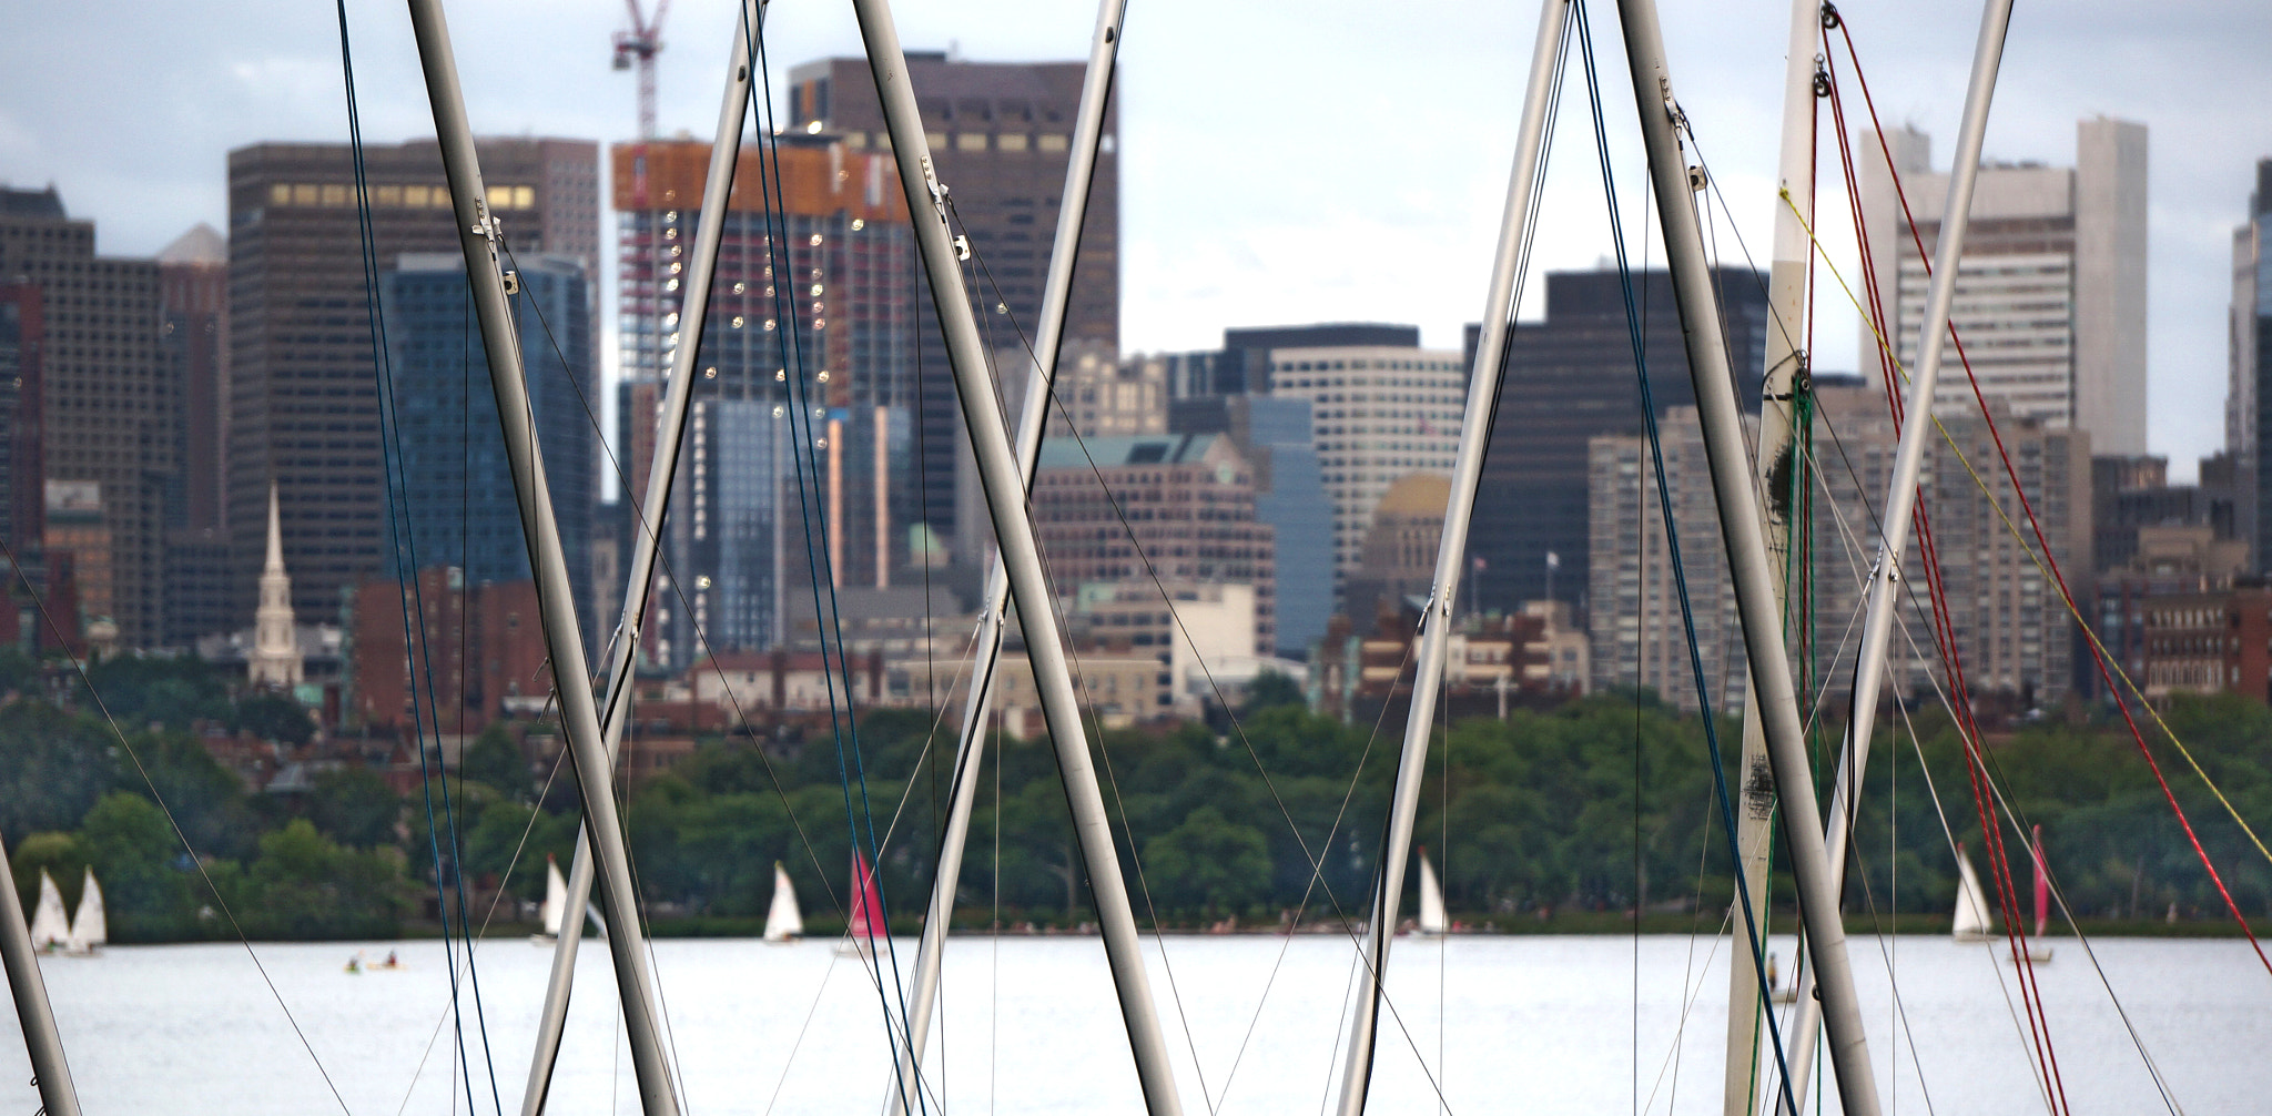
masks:
MULTIPOLYGON (((293 721, 264 696, 232 700, 202 668, 170 664, 98 664, 102 709, 86 693, 20 686, 0 707, 0 836, 25 902, 41 868, 75 900, 82 866, 93 866, 118 941, 391 936, 429 927, 436 914, 452 927, 482 923, 491 898, 498 921, 516 921, 520 902, 543 896, 545 857, 566 866, 579 825, 573 775, 532 764, 543 750, 523 739, 529 727, 493 725, 409 796, 352 764, 293 793, 252 793, 191 727, 289 739, 311 732, 304 714, 293 721), (436 877, 468 880, 468 898, 438 896, 436 877)), ((2242 818, 2272 821, 2272 755, 2261 746, 2272 711, 2240 698, 2179 698, 2163 716, 2242 818)), ((1715 727, 1734 768, 1736 725, 1715 727)), ((959 925, 1086 921, 1052 748, 988 743, 959 925)), ((1281 684, 1256 686, 1222 730, 1100 732, 1097 771, 1138 918, 1361 921, 1397 743, 1393 725, 1375 732, 1311 714, 1281 684)), ((2272 914, 2272 861, 2167 739, 2149 743, 2236 902, 2249 916, 2272 914)), ((841 921, 854 848, 882 848, 886 905, 913 927, 954 791, 952 748, 952 718, 877 709, 843 732, 711 739, 623 789, 657 930, 754 932, 779 861, 813 930, 827 932, 841 921)), ((1824 780, 1834 750, 1834 736, 1818 741, 1824 780)), ((1986 761, 2008 807, 2043 825, 2047 864, 2077 916, 2158 918, 2172 907, 2222 916, 2118 723, 2022 727, 1993 739, 1986 761)), ((1731 771, 1729 780, 1738 786, 1731 771)), ((1963 743, 1947 718, 1918 709, 1881 730, 1872 750, 1849 911, 1945 914, 1956 891, 1952 836, 1988 877, 1963 743)), ((1602 914, 1636 909, 1715 921, 1731 896, 1704 723, 1649 693, 1438 730, 1415 843, 1456 918, 1509 930, 1577 927, 1584 921, 1568 916, 1586 911, 1586 925, 1602 925, 1602 914)), ((2015 830, 2004 846, 2024 898, 2015 830)), ((1790 896, 1784 864, 1777 850, 1777 898, 1790 896)))

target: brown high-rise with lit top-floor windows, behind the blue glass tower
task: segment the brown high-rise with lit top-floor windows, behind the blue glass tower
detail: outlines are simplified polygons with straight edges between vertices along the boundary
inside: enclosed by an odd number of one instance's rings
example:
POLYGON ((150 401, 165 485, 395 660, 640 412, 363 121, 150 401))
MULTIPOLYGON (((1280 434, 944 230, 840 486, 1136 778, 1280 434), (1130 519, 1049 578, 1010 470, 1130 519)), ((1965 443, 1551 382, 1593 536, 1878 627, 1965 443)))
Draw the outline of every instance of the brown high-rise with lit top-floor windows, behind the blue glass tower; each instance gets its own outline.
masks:
MULTIPOLYGON (((507 266, 566 255, 600 259, 598 145, 484 139, 488 209, 507 266)), ((432 139, 366 145, 377 266, 404 252, 457 252, 459 236, 432 139)), ((463 268, 459 268, 463 284, 463 268)), ((227 530, 239 623, 266 550, 277 484, 284 561, 300 616, 339 611, 341 589, 393 571, 379 457, 354 152, 345 143, 257 143, 229 152, 227 530)), ((491 432, 495 436, 495 432, 491 432)))

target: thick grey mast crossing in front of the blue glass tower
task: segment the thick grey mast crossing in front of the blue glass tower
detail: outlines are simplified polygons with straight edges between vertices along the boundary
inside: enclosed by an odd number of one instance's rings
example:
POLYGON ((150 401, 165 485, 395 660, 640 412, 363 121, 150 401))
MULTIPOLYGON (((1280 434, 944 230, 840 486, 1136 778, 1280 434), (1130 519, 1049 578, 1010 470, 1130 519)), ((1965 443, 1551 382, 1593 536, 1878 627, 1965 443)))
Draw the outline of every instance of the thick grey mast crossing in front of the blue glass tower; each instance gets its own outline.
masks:
POLYGON ((513 475, 513 495, 520 502, 520 532, 529 548, 529 571, 536 575, 536 618, 552 657, 561 732, 568 736, 577 791, 584 798, 584 827, 598 852, 600 896, 613 914, 607 943, 616 955, 616 982, 623 996, 625 1034, 632 1041, 638 1100, 648 1116, 677 1116, 679 1098, 663 1061, 661 1027, 657 1027, 654 1014, 654 975, 648 971, 645 934, 638 927, 632 861, 623 843, 616 796, 609 791, 613 773, 600 734, 600 709, 586 682, 591 671, 584 664, 582 632, 577 632, 559 520, 552 516, 552 491, 545 484, 543 457, 536 448, 529 384, 520 366, 520 339, 504 300, 498 220, 488 211, 488 193, 482 186, 482 166, 473 148, 473 130, 466 123, 466 93, 457 80, 457 59, 450 50, 450 25, 443 18, 441 0, 409 0, 409 9, 427 100, 434 109, 434 134, 441 141, 443 173, 450 182, 459 245, 466 252, 466 282, 482 323, 482 348, 488 357, 488 384, 498 398, 504 457, 513 475))

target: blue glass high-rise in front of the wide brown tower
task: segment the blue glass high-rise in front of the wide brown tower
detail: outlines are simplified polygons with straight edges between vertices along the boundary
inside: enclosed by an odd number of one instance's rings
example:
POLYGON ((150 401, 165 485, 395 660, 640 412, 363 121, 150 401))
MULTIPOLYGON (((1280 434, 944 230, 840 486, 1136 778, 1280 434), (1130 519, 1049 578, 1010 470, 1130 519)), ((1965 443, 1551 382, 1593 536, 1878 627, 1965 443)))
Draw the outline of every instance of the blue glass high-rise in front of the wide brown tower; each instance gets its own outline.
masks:
MULTIPOLYGON (((529 418, 543 450, 568 584, 575 600, 588 605, 591 516, 600 482, 600 439, 591 420, 598 377, 588 284, 575 257, 520 255, 516 264, 520 291, 511 305, 529 418)), ((400 582, 425 566, 454 566, 477 586, 527 582, 529 548, 498 436, 498 398, 466 286, 466 257, 404 252, 379 282, 398 491, 404 500, 395 520, 409 545, 386 571, 400 582)), ((586 648, 598 643, 595 634, 604 636, 600 623, 598 616, 582 616, 586 648)))

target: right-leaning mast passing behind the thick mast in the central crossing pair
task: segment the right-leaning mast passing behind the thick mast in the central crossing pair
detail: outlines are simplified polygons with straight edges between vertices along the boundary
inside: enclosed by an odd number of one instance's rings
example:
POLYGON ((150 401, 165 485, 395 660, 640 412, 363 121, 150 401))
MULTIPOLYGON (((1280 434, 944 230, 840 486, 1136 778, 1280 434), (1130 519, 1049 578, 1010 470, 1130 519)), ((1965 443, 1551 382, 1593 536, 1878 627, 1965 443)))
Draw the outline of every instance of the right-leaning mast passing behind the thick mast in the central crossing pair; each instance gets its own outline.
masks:
MULTIPOLYGON (((1120 57, 1120 11, 1127 0, 1102 0, 1097 27, 1088 39, 1088 70, 1081 80, 1081 102, 1072 120, 1072 150, 1066 159, 1066 189, 1059 195, 1056 236, 1050 243, 1050 275, 1041 286, 1041 320, 1034 325, 1034 366, 1027 370, 1025 405, 1018 411, 1018 480, 1034 491, 1034 468, 1041 459, 1041 434, 1047 430, 1050 391, 1056 382, 1056 350, 1066 336, 1066 305, 1072 302, 1072 266, 1081 248, 1081 223, 1088 218, 1088 180, 1104 141, 1104 107, 1111 100, 1113 64, 1120 57)), ((970 693, 963 700, 963 730, 954 748, 954 777, 947 786, 947 825, 938 839, 938 868, 932 880, 932 907, 916 943, 913 989, 907 1002, 907 1041, 900 1043, 900 1073, 893 1075, 893 1111, 907 1114, 907 1086, 916 1080, 922 1046, 932 1032, 932 1009, 938 998, 938 959, 947 946, 947 921, 954 916, 954 891, 963 873, 963 848, 970 839, 970 811, 979 793, 979 761, 986 755, 986 723, 993 714, 995 684, 1002 666, 1002 625, 1009 609, 1009 582, 1002 559, 986 568, 986 605, 979 611, 977 657, 970 671, 970 693)))

